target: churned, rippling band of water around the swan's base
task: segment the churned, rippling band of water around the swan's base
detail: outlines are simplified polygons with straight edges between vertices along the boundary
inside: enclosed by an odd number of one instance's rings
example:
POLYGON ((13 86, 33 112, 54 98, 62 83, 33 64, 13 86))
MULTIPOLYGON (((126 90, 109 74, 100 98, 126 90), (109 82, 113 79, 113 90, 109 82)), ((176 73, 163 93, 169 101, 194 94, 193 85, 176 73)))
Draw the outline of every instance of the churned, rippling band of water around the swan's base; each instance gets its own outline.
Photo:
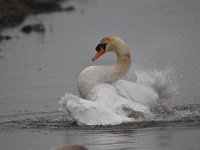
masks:
MULTIPOLYGON (((63 130, 70 128, 107 129, 110 127, 146 128, 157 126, 200 126, 200 104, 188 104, 175 107, 160 105, 152 111, 156 114, 152 119, 138 119, 134 122, 122 123, 114 126, 80 126, 69 113, 47 113, 42 117, 31 117, 22 120, 2 122, 0 123, 0 130, 15 132, 16 129, 63 130)), ((142 114, 137 115, 139 118, 142 117, 140 116, 142 114)))

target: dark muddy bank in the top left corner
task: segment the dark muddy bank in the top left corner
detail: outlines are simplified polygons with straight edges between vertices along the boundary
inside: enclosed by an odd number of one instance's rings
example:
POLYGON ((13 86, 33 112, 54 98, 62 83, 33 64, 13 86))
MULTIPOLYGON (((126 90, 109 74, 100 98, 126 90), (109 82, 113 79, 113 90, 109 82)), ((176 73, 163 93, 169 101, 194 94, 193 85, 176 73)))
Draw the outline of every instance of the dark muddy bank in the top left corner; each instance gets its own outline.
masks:
POLYGON ((23 22, 29 14, 52 11, 73 11, 74 7, 62 8, 65 0, 7 0, 0 1, 0 31, 23 22))

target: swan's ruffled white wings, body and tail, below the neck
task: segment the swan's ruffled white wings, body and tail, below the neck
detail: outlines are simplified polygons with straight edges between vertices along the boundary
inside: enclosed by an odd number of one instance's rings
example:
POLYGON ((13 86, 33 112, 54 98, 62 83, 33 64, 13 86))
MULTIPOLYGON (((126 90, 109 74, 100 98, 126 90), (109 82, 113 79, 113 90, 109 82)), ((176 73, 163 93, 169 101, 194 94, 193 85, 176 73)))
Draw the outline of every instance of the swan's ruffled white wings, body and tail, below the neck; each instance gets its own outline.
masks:
POLYGON ((84 125, 116 125, 152 119, 151 107, 160 99, 173 96, 174 83, 168 71, 140 72, 136 75, 136 82, 120 80, 98 85, 95 101, 66 93, 59 101, 60 110, 71 113, 79 124, 84 125), (142 114, 139 117, 136 115, 138 112, 142 114))

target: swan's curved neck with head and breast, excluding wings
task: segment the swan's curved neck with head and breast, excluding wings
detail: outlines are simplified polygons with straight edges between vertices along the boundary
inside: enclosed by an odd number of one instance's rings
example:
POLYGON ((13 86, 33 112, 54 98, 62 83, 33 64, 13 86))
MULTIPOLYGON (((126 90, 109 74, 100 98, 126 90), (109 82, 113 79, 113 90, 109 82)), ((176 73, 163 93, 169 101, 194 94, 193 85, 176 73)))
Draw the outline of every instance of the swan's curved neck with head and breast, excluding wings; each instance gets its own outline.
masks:
POLYGON ((84 69, 79 76, 78 90, 83 99, 95 100, 96 85, 100 83, 112 83, 121 79, 131 66, 131 55, 126 43, 118 37, 107 36, 100 40, 96 47, 95 61, 106 52, 114 52, 117 62, 112 66, 90 66, 84 69))

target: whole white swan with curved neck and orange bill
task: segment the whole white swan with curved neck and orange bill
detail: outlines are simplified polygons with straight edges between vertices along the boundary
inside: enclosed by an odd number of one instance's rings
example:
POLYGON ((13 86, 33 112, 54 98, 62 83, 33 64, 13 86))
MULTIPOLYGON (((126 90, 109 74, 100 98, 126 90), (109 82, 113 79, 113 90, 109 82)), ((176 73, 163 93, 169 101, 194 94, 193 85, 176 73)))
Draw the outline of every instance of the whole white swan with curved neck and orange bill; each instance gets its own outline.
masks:
POLYGON ((79 76, 80 97, 67 93, 61 98, 61 110, 86 125, 120 124, 138 118, 153 117, 150 111, 159 99, 170 98, 173 88, 167 74, 142 73, 137 82, 122 80, 131 66, 126 43, 116 36, 106 36, 96 47, 95 61, 106 52, 114 52, 117 61, 111 66, 90 66, 79 76))

